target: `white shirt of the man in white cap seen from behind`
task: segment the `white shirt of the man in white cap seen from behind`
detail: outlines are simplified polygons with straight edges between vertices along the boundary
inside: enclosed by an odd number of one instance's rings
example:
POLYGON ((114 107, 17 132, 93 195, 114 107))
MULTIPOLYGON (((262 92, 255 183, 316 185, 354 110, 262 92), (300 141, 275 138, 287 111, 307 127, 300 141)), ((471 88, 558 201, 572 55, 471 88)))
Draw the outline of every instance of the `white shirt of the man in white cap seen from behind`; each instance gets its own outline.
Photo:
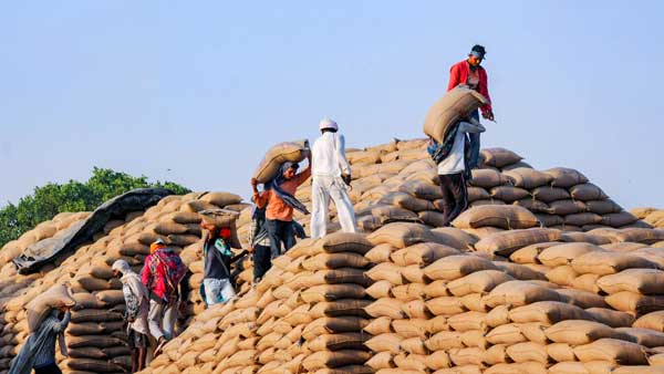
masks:
POLYGON ((351 174, 351 165, 345 158, 345 139, 336 133, 323 133, 311 148, 311 174, 313 176, 339 177, 351 174))

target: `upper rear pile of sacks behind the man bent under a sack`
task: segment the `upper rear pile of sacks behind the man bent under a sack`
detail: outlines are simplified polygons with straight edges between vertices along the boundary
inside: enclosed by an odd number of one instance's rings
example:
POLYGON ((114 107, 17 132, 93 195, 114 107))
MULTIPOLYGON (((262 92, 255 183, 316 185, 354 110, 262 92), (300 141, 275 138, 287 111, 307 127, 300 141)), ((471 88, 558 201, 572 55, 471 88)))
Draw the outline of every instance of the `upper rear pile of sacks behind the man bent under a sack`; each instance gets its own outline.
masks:
MULTIPOLYGON (((395 141, 347 152, 354 178, 350 196, 361 228, 375 230, 391 221, 430 226, 442 221, 443 215, 433 205, 442 195, 426 145, 425 139, 395 141)), ((473 170, 468 188, 471 207, 521 206, 536 214, 542 226, 566 231, 645 226, 578 170, 561 167, 536 170, 505 148, 483 149, 480 156, 480 168, 473 170)), ((297 196, 309 201, 310 195, 310 188, 302 186, 297 196)), ((299 218, 305 224, 309 219, 299 218)))

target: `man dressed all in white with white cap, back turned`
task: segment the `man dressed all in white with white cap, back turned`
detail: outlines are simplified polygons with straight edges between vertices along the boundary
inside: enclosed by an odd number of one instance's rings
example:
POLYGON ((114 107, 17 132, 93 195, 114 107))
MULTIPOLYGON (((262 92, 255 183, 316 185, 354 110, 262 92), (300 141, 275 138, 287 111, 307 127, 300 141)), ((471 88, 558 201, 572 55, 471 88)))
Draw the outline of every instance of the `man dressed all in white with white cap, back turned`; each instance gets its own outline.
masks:
POLYGON ((336 206, 342 231, 355 232, 355 212, 346 189, 351 183, 351 165, 345 157, 345 139, 338 134, 339 126, 332 120, 324 118, 319 128, 322 135, 311 148, 311 237, 321 238, 328 232, 330 198, 336 206))

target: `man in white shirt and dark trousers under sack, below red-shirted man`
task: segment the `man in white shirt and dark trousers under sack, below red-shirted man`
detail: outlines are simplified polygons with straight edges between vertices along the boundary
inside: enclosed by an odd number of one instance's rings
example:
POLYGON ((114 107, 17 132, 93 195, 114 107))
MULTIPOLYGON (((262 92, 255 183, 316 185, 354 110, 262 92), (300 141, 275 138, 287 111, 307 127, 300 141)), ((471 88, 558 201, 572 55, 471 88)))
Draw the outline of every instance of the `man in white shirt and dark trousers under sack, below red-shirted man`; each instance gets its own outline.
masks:
POLYGON ((468 135, 484 133, 485 127, 475 118, 470 122, 460 121, 454 124, 445 141, 439 144, 432 139, 427 152, 436 163, 443 198, 434 204, 444 215, 443 226, 449 226, 468 206, 466 178, 470 174, 469 159, 473 149, 469 148, 468 135), (442 201, 442 202, 439 202, 442 201))

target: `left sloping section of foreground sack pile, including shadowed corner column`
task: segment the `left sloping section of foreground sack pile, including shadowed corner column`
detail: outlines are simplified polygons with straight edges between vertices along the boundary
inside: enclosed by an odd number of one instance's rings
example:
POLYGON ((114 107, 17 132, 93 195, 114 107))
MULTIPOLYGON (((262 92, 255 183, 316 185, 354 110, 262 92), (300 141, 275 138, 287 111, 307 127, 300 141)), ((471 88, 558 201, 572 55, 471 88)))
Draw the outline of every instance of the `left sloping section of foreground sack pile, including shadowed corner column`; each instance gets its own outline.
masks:
POLYGON ((363 235, 305 240, 246 294, 199 314, 145 373, 370 373, 363 235))

